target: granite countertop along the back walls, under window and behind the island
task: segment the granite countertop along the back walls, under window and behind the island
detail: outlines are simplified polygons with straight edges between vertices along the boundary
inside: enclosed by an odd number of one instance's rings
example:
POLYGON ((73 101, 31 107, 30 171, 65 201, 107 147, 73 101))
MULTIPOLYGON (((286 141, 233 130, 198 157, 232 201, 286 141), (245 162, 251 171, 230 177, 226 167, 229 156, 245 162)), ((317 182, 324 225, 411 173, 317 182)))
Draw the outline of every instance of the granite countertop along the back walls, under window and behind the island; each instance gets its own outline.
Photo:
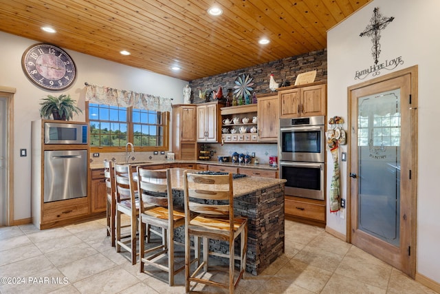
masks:
MULTIPOLYGON (((144 161, 135 161, 129 162, 131 165, 165 165, 170 163, 197 163, 198 165, 219 165, 223 167, 241 167, 241 168, 249 168, 249 169, 265 169, 269 171, 277 171, 278 167, 272 167, 272 165, 239 165, 237 163, 232 162, 218 162, 218 161, 208 161, 208 160, 144 160, 144 161)), ((103 169, 103 162, 96 162, 90 165, 90 169, 103 169)))

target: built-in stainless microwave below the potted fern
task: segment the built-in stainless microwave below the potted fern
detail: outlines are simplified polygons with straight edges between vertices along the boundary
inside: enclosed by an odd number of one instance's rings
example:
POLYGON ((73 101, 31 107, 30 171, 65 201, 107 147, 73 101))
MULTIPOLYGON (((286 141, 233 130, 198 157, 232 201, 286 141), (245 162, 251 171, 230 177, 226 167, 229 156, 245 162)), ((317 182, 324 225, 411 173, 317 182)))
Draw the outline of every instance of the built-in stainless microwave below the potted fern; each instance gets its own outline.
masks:
POLYGON ((45 144, 87 144, 87 124, 54 123, 44 124, 45 144))

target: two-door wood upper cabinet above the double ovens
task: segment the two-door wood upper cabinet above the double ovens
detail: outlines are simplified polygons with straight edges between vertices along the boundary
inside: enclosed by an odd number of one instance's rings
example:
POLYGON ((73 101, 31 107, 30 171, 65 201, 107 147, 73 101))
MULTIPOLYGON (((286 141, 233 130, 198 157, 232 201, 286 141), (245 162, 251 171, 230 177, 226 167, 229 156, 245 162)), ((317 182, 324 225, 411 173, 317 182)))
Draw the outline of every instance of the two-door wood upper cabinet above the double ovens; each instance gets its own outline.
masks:
POLYGON ((327 112, 327 85, 313 83, 278 91, 280 118, 325 116, 327 112))

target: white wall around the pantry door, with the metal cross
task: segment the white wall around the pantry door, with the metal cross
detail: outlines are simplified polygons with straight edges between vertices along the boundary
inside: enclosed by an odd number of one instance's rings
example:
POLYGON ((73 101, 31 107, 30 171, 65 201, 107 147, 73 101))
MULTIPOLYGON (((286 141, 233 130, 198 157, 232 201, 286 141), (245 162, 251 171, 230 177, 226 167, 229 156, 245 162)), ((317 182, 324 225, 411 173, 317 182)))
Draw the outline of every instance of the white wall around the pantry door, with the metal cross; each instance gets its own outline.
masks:
MULTIPOLYGON (((381 32, 380 62, 404 60, 395 70, 382 70, 381 75, 419 66, 418 104, 418 196, 417 196, 417 273, 440 282, 440 224, 439 176, 440 156, 437 134, 440 117, 438 71, 440 69, 440 1, 438 0, 375 0, 349 19, 329 30, 327 34, 328 59, 328 116, 348 117, 347 87, 360 83, 355 80, 356 70, 373 65, 371 38, 360 37, 369 25, 373 9, 379 8, 384 17, 395 17, 381 32)), ((371 75, 363 81, 373 78, 371 75)), ((346 124, 347 126, 347 124, 346 124)), ((347 151, 347 145, 341 147, 347 151)), ((329 157, 327 191, 333 162, 329 157)), ((347 198, 347 164, 341 162, 342 197, 347 198)), ((327 226, 346 234, 346 220, 340 213, 327 213, 327 226)))

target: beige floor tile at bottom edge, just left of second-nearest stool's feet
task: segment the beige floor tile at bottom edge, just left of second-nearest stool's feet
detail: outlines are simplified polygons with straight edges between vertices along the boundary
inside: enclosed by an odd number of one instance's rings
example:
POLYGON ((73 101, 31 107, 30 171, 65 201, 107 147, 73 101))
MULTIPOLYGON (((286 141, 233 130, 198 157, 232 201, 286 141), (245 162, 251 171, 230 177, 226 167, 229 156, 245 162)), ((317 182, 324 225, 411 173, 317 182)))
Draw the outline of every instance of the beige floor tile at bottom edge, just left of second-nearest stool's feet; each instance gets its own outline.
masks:
POLYGON ((74 286, 80 293, 118 293, 137 283, 139 280, 128 271, 114 267, 80 280, 74 286))

